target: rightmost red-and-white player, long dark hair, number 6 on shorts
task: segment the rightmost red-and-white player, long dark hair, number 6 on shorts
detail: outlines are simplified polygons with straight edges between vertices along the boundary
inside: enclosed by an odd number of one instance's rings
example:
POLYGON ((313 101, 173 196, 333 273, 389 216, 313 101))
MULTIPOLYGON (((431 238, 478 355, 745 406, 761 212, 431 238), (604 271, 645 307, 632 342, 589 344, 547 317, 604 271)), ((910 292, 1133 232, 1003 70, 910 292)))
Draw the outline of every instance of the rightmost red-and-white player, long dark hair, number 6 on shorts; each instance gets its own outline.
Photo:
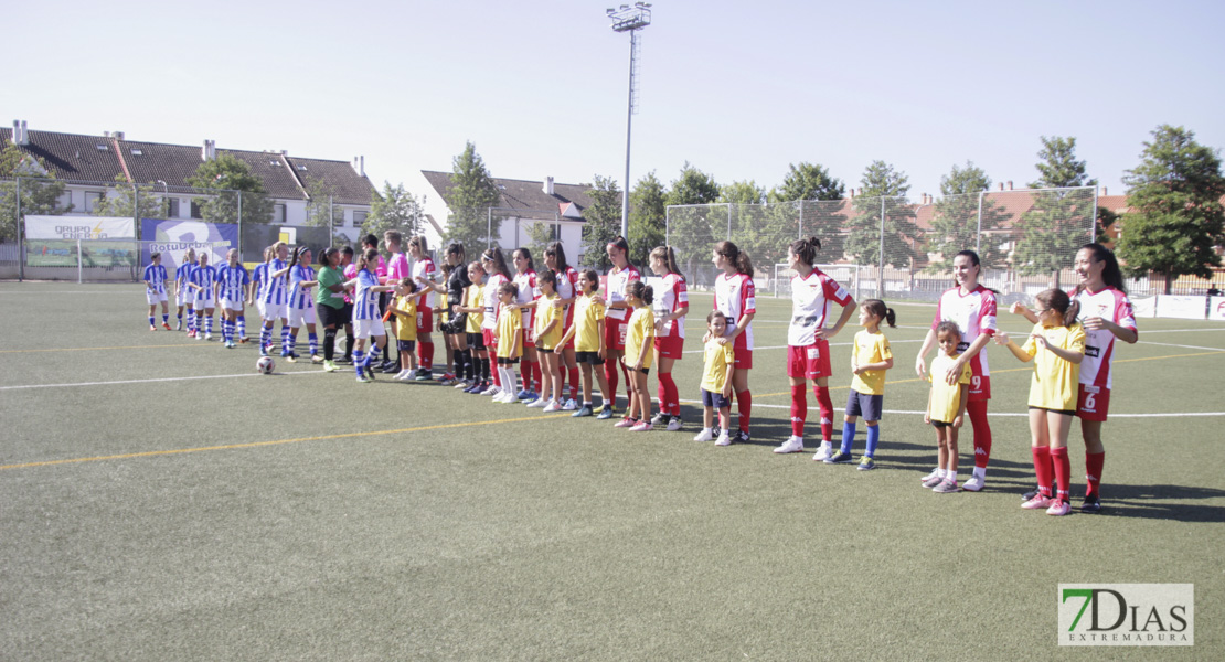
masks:
MULTIPOLYGON (((1136 313, 1127 299, 1118 261, 1101 244, 1085 244, 1076 253, 1076 273, 1080 284, 1072 292, 1080 303, 1077 321, 1084 327, 1084 360, 1080 361, 1080 385, 1076 414, 1084 437, 1085 494, 1082 513, 1101 511, 1101 470, 1106 448, 1101 443, 1101 423, 1110 411, 1110 390, 1115 378, 1115 340, 1136 343, 1136 313)), ((1013 303, 1012 312, 1035 321, 1038 316, 1013 303)), ((1036 322, 1035 322, 1036 323, 1036 322)))

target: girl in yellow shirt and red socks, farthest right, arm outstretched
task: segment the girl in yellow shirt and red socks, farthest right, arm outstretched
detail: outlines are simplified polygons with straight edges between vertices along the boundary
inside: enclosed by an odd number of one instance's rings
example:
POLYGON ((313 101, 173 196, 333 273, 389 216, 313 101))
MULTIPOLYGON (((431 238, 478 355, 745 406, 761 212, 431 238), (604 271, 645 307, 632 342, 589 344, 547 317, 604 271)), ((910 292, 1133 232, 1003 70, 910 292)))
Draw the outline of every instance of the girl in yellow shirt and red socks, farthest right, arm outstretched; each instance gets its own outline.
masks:
POLYGON ((1038 324, 1024 346, 1017 346, 1008 334, 996 334, 996 343, 1007 345, 1013 356, 1034 361, 1029 384, 1029 432, 1033 434, 1034 472, 1038 494, 1022 504, 1025 509, 1045 508, 1047 515, 1067 515, 1072 465, 1068 461, 1068 430, 1076 416, 1080 361, 1084 360, 1084 327, 1076 321, 1080 305, 1063 290, 1046 290, 1038 302, 1038 324), (1054 466, 1052 466, 1054 464, 1054 466), (1057 492, 1051 493, 1051 474, 1057 492))

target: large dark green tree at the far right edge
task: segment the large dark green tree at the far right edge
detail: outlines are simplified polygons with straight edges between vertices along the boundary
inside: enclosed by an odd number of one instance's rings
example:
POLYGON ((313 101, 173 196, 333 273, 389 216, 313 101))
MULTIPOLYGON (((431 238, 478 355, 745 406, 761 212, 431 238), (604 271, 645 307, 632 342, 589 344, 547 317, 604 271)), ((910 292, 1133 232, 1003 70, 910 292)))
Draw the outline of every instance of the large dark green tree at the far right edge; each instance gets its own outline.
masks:
POLYGON ((1218 149, 1181 126, 1161 125, 1144 143, 1140 164, 1123 176, 1131 212, 1123 215, 1118 257, 1128 272, 1165 277, 1165 294, 1182 274, 1210 278, 1225 241, 1225 176, 1218 149))

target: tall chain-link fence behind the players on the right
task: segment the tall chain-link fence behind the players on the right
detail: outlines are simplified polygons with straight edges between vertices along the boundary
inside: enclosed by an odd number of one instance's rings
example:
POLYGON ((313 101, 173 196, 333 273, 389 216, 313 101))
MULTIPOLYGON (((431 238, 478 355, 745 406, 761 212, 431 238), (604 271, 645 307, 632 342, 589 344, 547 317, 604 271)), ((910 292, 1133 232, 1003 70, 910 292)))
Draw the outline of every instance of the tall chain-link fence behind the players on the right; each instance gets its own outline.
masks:
POLYGON ((788 246, 810 236, 821 240, 822 269, 856 297, 935 300, 951 284, 952 258, 969 248, 982 261, 980 280, 1019 299, 1074 283, 1076 251, 1096 236, 1096 190, 673 206, 666 214, 666 241, 695 289, 713 286, 714 247, 731 241, 752 258, 758 292, 789 296, 788 246))

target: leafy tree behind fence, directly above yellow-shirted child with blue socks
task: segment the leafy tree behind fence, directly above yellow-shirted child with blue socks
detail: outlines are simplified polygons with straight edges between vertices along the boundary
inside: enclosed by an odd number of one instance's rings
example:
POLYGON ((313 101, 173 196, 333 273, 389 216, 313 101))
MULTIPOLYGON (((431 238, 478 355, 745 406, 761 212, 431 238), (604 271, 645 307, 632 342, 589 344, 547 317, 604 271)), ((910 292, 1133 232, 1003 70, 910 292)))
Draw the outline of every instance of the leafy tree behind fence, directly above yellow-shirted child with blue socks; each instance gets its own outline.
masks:
POLYGON ((910 177, 882 160, 875 160, 864 170, 860 186, 862 191, 853 203, 855 215, 848 224, 846 253, 858 264, 880 264, 883 229, 884 263, 909 267, 914 258, 909 241, 919 235, 914 209, 905 199, 910 192, 910 177))

